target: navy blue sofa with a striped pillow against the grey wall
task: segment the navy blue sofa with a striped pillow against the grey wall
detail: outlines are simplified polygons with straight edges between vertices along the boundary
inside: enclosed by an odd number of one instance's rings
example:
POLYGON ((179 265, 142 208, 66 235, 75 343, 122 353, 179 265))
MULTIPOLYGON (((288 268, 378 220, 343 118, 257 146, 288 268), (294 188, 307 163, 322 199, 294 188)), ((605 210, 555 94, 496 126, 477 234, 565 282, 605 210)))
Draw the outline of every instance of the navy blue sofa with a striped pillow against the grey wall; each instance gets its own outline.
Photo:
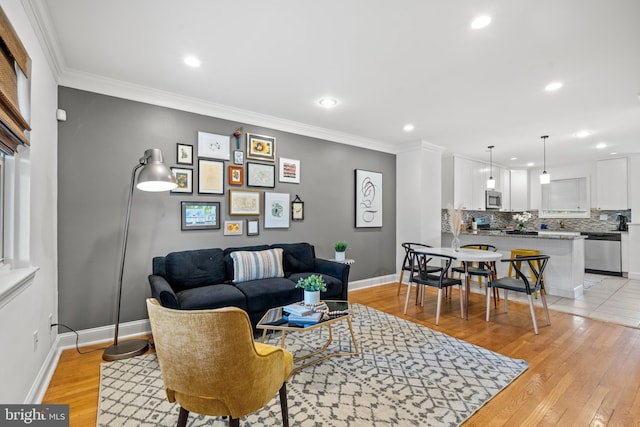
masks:
POLYGON ((153 258, 149 284, 152 297, 164 307, 200 310, 234 306, 245 310, 255 327, 270 308, 302 301, 303 291, 295 284, 312 274, 321 274, 327 284, 321 298, 347 300, 349 266, 316 258, 309 243, 171 252, 153 258), (274 248, 282 249, 284 277, 234 281, 233 252, 274 248))

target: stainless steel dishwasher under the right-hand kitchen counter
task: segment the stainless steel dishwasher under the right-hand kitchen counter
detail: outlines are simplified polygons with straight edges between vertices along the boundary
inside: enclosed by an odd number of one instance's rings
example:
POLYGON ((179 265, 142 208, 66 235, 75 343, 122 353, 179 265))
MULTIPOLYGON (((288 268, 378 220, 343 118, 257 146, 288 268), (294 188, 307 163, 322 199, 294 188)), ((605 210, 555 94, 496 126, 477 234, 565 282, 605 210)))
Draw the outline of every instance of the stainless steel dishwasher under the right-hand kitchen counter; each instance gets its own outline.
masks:
POLYGON ((584 270, 587 273, 622 276, 620 233, 580 233, 587 236, 584 245, 584 270))

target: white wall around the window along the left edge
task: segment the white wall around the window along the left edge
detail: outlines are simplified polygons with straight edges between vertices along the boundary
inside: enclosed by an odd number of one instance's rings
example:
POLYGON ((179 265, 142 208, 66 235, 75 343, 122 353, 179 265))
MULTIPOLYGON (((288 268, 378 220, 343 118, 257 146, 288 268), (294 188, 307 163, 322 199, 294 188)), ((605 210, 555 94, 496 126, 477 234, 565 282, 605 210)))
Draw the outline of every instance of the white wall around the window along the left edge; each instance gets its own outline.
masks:
POLYGON ((49 313, 57 318, 57 82, 22 3, 0 0, 0 6, 32 60, 31 147, 11 161, 20 192, 14 200, 18 211, 10 230, 10 256, 17 267, 39 270, 34 280, 0 304, 0 402, 28 403, 38 399, 33 386, 51 357, 55 333, 50 333, 49 313))

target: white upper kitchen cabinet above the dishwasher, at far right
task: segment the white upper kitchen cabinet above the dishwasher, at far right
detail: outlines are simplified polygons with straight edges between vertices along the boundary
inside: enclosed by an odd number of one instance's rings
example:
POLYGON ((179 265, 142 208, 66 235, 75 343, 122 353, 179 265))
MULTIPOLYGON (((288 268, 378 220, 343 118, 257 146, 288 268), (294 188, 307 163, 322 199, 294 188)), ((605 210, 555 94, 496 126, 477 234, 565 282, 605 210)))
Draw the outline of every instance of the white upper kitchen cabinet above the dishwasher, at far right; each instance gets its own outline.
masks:
POLYGON ((626 158, 596 162, 597 209, 628 209, 627 168, 626 158))

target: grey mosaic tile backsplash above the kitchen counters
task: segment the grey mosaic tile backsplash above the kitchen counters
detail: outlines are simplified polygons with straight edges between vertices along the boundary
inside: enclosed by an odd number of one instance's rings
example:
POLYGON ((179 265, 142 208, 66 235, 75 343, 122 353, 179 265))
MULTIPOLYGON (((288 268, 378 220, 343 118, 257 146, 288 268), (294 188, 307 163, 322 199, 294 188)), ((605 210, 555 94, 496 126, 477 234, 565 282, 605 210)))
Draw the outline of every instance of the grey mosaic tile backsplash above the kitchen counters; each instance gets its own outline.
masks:
MULTIPOLYGON (((631 222, 631 210, 602 211, 591 209, 589 218, 538 218, 537 210, 530 210, 533 217, 527 222, 527 230, 540 230, 541 224, 547 224, 548 230, 553 231, 616 231, 618 230, 618 214, 627 217, 627 222, 631 222), (600 217, 606 215, 606 220, 600 217)), ((491 223, 491 228, 516 228, 517 222, 513 215, 518 212, 500 211, 464 211, 463 219, 467 228, 471 228, 471 218, 483 218, 491 223)), ((451 231, 446 209, 441 213, 441 229, 444 232, 451 231)))

